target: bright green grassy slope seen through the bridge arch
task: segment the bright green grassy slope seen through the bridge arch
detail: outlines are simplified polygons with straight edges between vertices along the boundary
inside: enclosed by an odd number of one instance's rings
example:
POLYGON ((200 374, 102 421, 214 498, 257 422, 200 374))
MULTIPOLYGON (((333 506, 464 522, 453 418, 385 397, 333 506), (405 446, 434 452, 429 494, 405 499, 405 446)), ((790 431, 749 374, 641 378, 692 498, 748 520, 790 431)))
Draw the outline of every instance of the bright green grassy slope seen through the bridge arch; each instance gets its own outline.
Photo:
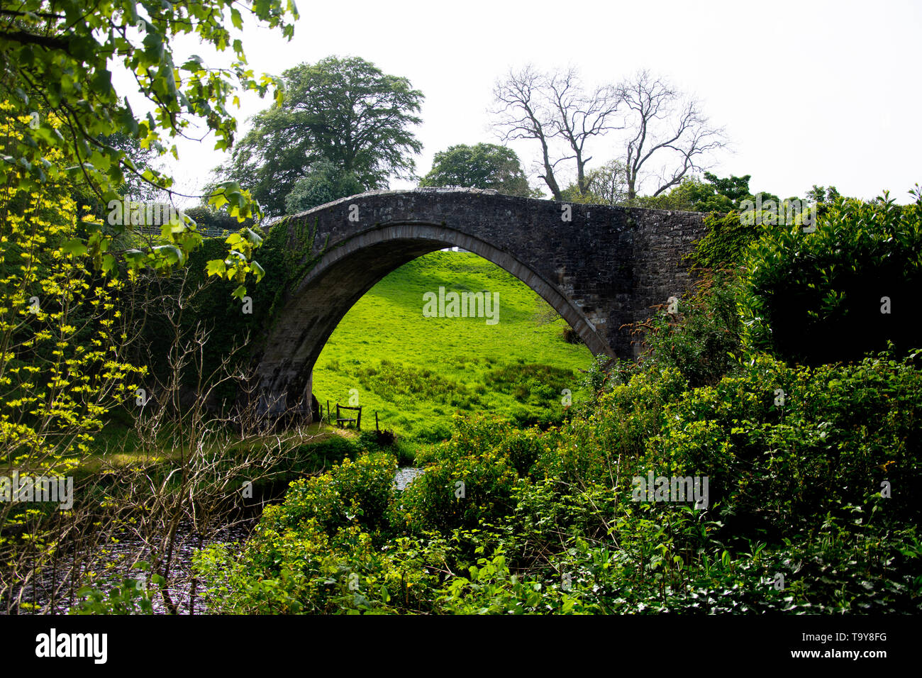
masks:
POLYGON ((447 437, 455 412, 490 411, 523 425, 559 421, 561 390, 574 401, 592 361, 584 345, 561 338, 561 318, 502 268, 471 253, 433 252, 398 268, 356 303, 327 341, 313 370, 326 409, 348 405, 357 389, 362 427, 431 441, 447 437), (499 292, 499 322, 424 317, 423 293, 499 292))

